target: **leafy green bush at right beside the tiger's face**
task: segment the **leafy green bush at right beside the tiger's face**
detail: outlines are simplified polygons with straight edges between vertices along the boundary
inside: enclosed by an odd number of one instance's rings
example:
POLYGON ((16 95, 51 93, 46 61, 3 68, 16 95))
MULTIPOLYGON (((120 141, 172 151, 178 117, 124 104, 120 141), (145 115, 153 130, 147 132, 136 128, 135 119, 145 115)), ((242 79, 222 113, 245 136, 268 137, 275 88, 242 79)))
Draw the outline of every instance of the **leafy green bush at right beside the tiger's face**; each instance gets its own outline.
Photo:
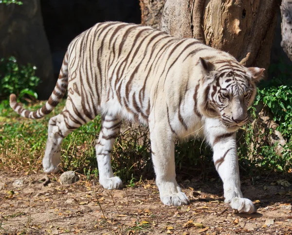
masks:
POLYGON ((250 113, 255 121, 246 125, 240 133, 241 145, 238 148, 242 169, 260 169, 266 171, 289 171, 292 169, 292 81, 291 69, 281 61, 271 65, 270 73, 277 74, 270 81, 264 81, 257 88, 257 96, 250 113), (259 106, 258 106, 259 105, 259 106), (256 106, 268 107, 279 125, 280 131, 287 141, 283 146, 282 156, 275 151, 275 145, 270 145, 269 135, 273 130, 268 129, 257 119, 256 106))

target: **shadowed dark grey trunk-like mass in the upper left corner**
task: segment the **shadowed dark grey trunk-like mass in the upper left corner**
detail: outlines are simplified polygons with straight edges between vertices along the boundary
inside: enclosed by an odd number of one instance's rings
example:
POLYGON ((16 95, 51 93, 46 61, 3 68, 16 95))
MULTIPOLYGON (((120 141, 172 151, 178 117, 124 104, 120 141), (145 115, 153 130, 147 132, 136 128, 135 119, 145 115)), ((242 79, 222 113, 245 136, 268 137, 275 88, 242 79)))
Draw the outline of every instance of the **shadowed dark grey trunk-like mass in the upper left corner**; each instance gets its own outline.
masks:
POLYGON ((37 66, 41 79, 40 99, 47 99, 55 87, 49 43, 44 31, 39 0, 23 5, 0 4, 0 58, 15 56, 22 65, 37 66))

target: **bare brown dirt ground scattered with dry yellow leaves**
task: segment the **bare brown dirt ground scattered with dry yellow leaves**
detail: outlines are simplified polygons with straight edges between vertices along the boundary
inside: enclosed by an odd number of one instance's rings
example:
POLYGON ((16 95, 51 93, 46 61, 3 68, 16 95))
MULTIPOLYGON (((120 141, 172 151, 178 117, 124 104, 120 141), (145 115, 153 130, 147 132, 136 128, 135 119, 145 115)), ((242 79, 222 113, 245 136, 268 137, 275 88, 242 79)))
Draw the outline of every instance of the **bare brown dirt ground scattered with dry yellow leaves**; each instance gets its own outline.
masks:
POLYGON ((51 182, 44 186, 44 176, 0 172, 0 234, 292 234, 292 186, 285 179, 242 179, 243 194, 257 207, 256 214, 245 215, 223 203, 218 179, 181 182, 191 204, 168 207, 154 181, 110 191, 84 176, 64 186, 59 175, 49 175, 51 182), (17 180, 23 185, 15 185, 17 180))

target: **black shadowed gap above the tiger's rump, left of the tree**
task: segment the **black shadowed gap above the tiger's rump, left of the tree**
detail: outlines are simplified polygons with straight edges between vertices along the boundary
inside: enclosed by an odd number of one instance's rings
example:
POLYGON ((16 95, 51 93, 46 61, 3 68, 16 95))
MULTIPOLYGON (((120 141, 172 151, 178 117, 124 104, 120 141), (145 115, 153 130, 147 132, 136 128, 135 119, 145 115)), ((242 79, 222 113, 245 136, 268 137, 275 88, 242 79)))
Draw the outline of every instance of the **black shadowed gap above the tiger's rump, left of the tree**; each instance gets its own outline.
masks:
POLYGON ((40 4, 56 78, 75 36, 97 22, 141 22, 139 0, 40 0, 40 4))

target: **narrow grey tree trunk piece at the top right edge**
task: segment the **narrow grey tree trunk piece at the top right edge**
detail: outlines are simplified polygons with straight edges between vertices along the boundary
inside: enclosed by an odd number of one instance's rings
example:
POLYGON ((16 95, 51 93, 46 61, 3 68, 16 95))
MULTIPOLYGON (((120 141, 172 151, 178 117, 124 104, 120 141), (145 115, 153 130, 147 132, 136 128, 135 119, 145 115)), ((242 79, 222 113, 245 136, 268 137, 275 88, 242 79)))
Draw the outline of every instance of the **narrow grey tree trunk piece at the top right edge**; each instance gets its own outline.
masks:
POLYGON ((292 0, 283 0, 280 6, 282 16, 282 41, 281 47, 292 60, 292 0))

